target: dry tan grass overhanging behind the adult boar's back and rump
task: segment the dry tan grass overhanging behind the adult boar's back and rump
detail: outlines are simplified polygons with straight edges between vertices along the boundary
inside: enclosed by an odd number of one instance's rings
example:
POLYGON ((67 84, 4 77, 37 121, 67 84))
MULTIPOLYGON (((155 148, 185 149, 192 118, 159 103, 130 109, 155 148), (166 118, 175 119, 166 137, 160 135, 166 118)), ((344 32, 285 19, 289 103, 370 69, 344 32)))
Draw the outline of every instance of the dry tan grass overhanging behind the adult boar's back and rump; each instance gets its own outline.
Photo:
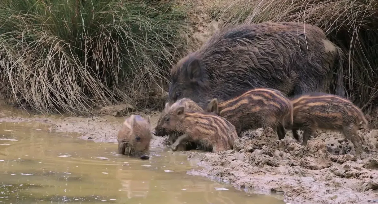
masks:
POLYGON ((344 83, 364 110, 378 105, 377 0, 218 1, 212 16, 225 23, 301 22, 321 27, 345 53, 344 83))

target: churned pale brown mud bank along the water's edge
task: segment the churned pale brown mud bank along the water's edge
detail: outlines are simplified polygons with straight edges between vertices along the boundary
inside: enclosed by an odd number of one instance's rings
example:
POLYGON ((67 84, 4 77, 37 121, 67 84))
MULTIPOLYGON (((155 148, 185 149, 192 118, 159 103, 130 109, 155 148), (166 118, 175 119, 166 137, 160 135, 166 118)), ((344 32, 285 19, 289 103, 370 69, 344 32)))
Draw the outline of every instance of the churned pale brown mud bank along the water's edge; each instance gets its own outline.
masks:
MULTIPOLYGON (((155 125, 159 114, 149 114, 155 125)), ((0 121, 42 122, 50 124, 53 131, 76 132, 82 139, 116 143, 124 117, 25 117, 2 113, 0 121)), ((189 160, 203 158, 199 164, 205 168, 193 170, 192 175, 221 179, 260 193, 283 193, 287 203, 373 203, 378 200, 378 131, 361 130, 360 134, 367 143, 363 160, 354 158, 353 145, 339 133, 319 132, 304 147, 293 139, 291 132, 278 141, 270 128, 244 133, 235 141, 233 150, 186 154, 189 160)), ((166 148, 161 137, 155 137, 151 145, 166 148)))

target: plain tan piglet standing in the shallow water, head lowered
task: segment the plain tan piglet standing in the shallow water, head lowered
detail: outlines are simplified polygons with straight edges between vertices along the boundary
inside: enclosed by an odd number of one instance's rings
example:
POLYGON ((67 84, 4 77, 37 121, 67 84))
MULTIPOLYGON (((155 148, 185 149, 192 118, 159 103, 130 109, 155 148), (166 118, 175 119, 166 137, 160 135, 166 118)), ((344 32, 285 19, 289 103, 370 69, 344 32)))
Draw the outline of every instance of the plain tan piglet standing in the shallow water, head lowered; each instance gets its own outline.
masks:
POLYGON ((118 154, 149 159, 152 139, 150 116, 147 120, 139 115, 128 117, 118 131, 118 154))

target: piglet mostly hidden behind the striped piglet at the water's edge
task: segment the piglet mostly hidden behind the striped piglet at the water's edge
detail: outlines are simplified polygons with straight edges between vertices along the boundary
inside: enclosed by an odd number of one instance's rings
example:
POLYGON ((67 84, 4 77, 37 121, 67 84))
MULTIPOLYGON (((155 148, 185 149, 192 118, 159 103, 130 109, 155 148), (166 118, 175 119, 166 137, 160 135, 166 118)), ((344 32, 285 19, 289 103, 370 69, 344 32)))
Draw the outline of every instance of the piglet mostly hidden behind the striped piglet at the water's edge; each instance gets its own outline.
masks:
MULTIPOLYGON (((177 106, 180 106, 180 105, 184 105, 186 110, 191 110, 191 111, 195 111, 195 112, 203 112, 203 109, 200 106, 198 106, 193 100, 187 99, 187 98, 182 98, 180 100, 177 100, 174 104, 166 103, 166 106, 165 106, 164 110, 161 112, 157 124, 161 123, 162 117, 164 116, 164 114, 167 111, 169 111, 170 108, 174 108, 174 107, 177 107, 177 106)), ((182 134, 183 133, 180 133, 180 132, 177 132, 177 131, 166 130, 165 128, 161 128, 161 127, 158 127, 158 126, 155 127, 155 135, 156 136, 168 135, 171 145, 176 141, 177 137, 182 135, 182 134)), ((191 149, 196 149, 196 148, 199 148, 198 144, 196 142, 187 141, 187 142, 181 144, 178 147, 178 150, 186 151, 186 150, 191 150, 191 149)))

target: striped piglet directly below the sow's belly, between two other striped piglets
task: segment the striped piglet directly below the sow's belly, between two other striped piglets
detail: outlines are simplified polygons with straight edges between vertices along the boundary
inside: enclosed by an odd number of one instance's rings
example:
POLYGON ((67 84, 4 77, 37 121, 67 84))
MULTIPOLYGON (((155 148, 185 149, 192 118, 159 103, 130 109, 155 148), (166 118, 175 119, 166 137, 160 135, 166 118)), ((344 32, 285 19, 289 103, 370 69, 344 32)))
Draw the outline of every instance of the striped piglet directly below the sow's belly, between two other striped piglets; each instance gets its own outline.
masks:
POLYGON ((285 126, 293 124, 293 107, 280 91, 270 88, 255 88, 218 104, 212 99, 207 112, 217 113, 235 126, 236 131, 249 128, 271 127, 283 139, 285 126))

